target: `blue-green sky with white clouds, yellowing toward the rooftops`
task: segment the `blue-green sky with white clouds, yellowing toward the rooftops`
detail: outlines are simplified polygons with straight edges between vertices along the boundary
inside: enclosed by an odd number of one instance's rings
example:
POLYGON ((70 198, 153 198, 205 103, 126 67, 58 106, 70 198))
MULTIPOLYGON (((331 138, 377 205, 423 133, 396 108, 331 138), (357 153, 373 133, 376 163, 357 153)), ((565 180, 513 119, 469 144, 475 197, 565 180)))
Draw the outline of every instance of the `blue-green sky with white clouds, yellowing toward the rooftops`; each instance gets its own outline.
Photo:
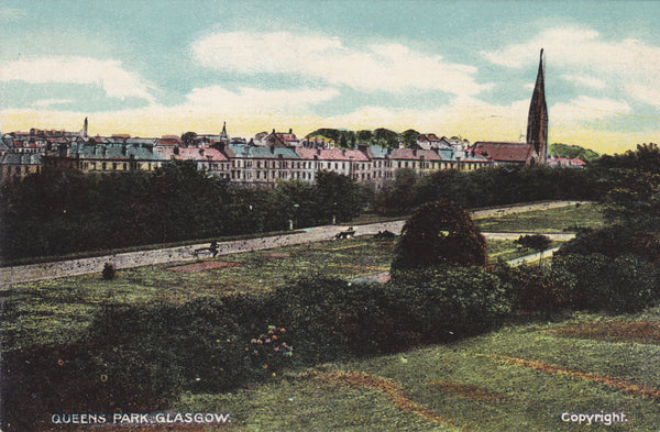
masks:
POLYGON ((0 0, 0 131, 660 142, 660 1, 0 0))

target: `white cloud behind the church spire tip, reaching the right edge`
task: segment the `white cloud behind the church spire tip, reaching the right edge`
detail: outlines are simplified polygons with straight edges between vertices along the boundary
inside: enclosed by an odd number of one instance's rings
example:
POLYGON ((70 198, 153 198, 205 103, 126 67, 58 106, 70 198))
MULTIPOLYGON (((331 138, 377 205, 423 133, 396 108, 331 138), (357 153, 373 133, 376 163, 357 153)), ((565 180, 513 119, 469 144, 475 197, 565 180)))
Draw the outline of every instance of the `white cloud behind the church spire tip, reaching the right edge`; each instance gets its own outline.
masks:
POLYGON ((635 38, 604 40, 588 29, 551 29, 521 44, 482 52, 491 63, 528 67, 538 62, 543 47, 547 67, 563 71, 562 78, 594 89, 623 91, 626 97, 658 107, 653 89, 660 88, 660 46, 635 38), (649 91, 647 91, 649 90, 649 91))

